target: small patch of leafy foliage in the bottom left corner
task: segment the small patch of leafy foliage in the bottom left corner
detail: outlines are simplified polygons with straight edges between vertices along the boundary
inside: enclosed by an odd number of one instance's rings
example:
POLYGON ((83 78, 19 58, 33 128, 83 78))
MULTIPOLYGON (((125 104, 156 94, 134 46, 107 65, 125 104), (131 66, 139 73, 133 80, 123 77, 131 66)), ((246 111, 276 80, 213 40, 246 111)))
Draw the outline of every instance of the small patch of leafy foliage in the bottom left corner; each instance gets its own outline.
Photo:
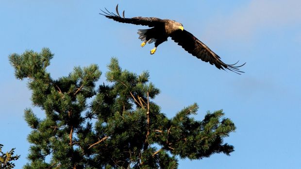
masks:
POLYGON ((13 169, 15 164, 12 161, 19 159, 20 155, 14 155, 15 149, 9 152, 2 152, 3 145, 0 144, 0 169, 13 169))

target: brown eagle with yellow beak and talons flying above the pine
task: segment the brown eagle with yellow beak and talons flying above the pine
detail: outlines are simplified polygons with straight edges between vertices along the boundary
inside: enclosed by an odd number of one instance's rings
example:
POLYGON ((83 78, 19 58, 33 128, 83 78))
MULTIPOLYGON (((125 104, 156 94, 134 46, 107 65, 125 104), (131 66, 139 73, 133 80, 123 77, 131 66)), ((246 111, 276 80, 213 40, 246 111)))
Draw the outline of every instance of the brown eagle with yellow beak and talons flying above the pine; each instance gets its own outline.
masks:
POLYGON ((239 70, 240 67, 244 66, 246 63, 240 66, 236 66, 238 62, 232 65, 225 64, 220 60, 220 57, 213 51, 211 51, 204 43, 202 43, 193 34, 184 30, 182 23, 176 22, 170 19, 160 19, 157 17, 124 17, 124 11, 122 17, 118 12, 118 4, 116 6, 116 14, 109 12, 105 8, 106 12, 101 10, 103 15, 107 18, 113 19, 122 23, 131 23, 135 25, 149 26, 151 29, 139 29, 137 34, 139 34, 139 39, 143 41, 141 47, 144 47, 146 43, 154 42, 154 48, 151 50, 151 54, 154 54, 157 47, 167 41, 168 37, 171 37, 178 45, 182 46, 185 51, 196 56, 204 62, 209 62, 211 65, 215 65, 218 69, 228 69, 237 74, 244 73, 239 70))

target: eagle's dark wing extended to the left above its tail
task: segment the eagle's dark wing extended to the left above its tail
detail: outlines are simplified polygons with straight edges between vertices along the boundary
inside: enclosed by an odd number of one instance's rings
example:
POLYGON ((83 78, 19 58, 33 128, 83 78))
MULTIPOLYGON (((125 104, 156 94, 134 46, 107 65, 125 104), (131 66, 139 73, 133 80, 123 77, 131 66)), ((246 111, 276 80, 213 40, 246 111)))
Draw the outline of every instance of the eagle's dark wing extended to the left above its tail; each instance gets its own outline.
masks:
POLYGON ((157 17, 132 17, 132 18, 125 18, 124 17, 124 11, 122 12, 122 17, 120 17, 119 12, 118 12, 118 4, 116 6, 116 13, 114 14, 112 12, 109 12, 105 8, 106 12, 102 11, 103 14, 100 13, 100 15, 103 15, 107 18, 113 19, 117 22, 122 22, 122 23, 132 23, 135 25, 144 25, 144 26, 149 26, 149 27, 154 27, 158 25, 164 25, 165 21, 163 19, 157 18, 157 17))

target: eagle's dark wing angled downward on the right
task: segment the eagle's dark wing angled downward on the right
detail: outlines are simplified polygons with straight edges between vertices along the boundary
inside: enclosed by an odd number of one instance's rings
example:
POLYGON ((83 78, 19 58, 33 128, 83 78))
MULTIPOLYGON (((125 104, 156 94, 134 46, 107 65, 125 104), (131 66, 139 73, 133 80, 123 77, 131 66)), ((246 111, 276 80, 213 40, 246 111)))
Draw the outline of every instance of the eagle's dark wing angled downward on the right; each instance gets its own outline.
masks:
POLYGON ((224 68, 234 71, 235 73, 244 73, 239 70, 239 67, 242 67, 246 63, 240 66, 235 66, 238 62, 233 65, 227 65, 220 60, 220 57, 211 51, 205 44, 203 44, 198 38, 196 38, 193 34, 183 30, 176 31, 170 35, 171 39, 174 40, 178 45, 182 46, 185 51, 191 53, 197 58, 201 59, 204 62, 209 62, 211 65, 215 65, 218 69, 224 68))

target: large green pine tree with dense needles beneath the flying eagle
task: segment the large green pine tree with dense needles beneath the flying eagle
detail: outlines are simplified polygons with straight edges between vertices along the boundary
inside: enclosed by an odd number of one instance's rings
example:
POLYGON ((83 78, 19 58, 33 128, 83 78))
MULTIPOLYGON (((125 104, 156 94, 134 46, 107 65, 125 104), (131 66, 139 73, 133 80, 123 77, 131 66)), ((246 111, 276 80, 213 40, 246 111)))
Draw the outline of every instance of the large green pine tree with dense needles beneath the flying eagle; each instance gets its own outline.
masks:
POLYGON ((9 56, 16 78, 28 79, 33 105, 46 114, 40 119, 31 109, 24 111, 32 128, 25 169, 175 169, 178 157, 234 151, 223 143, 235 126, 222 110, 199 121, 192 117, 198 110, 194 103, 167 118, 153 102, 160 91, 149 82, 149 72, 122 70, 112 58, 106 73, 110 83, 97 87, 97 65, 75 67, 55 80, 46 69, 52 57, 46 48, 9 56))

